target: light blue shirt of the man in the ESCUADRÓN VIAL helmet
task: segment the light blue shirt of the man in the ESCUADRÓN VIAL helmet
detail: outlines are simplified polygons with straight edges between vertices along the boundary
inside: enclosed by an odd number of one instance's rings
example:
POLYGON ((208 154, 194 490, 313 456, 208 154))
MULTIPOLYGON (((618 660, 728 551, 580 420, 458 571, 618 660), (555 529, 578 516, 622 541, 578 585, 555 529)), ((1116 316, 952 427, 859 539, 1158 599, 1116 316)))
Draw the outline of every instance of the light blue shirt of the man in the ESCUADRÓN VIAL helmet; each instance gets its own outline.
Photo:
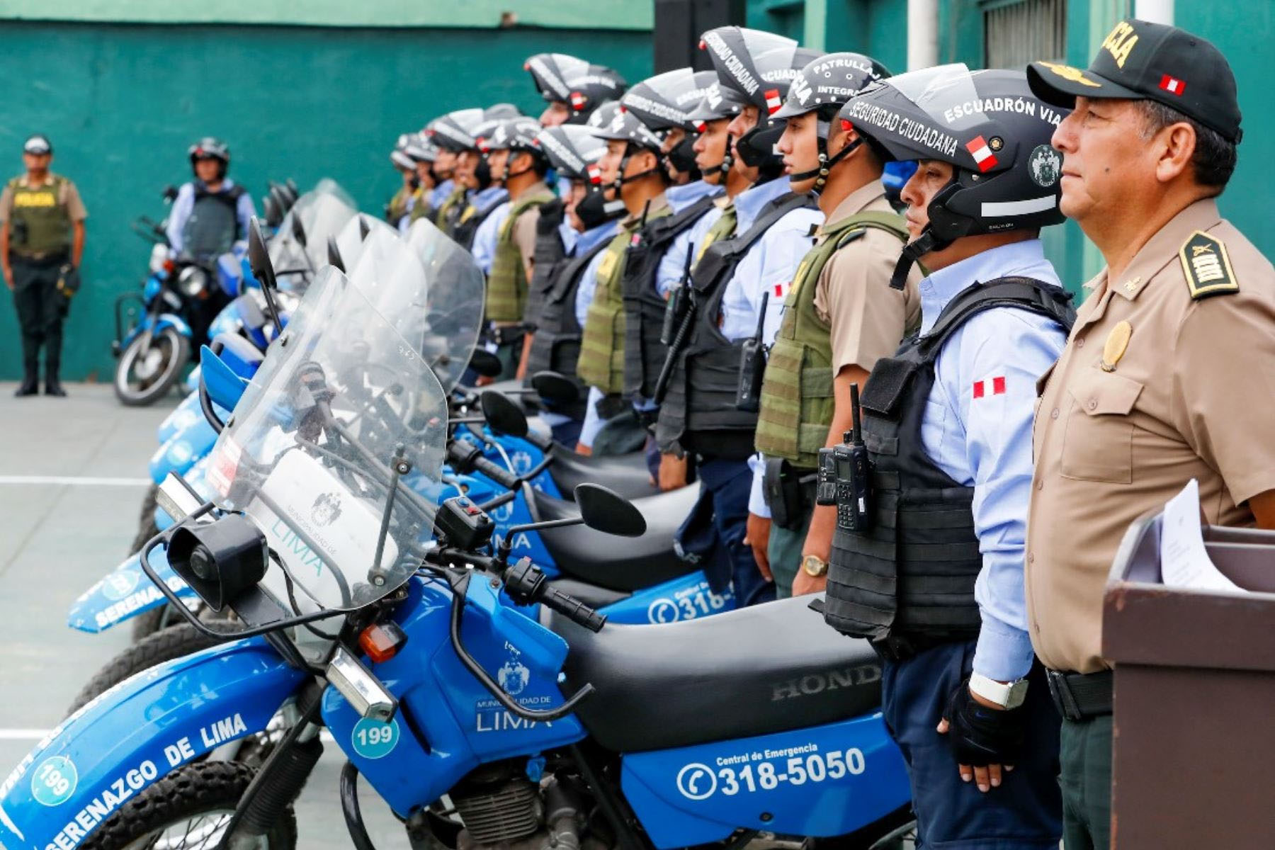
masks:
MULTIPOLYGON (((1009 275, 1058 284, 1039 240, 984 251, 921 282, 921 333, 963 289, 1009 275)), ((1025 310, 978 313, 943 344, 921 419, 926 454, 974 488, 974 530, 983 553, 974 585, 983 618, 974 670, 1001 682, 1020 679, 1031 668, 1023 557, 1035 382, 1066 339, 1054 321, 1025 310)))

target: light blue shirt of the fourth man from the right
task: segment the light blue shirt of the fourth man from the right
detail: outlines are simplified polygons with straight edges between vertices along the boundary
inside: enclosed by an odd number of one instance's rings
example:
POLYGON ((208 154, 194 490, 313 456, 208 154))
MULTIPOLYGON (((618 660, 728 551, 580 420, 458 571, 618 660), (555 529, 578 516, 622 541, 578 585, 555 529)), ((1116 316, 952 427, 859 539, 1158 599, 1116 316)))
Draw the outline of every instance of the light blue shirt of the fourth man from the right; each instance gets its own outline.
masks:
MULTIPOLYGON (((740 192, 734 199, 738 217, 736 236, 746 233, 762 208, 788 191, 788 178, 779 177, 740 192)), ((762 297, 769 292, 762 339, 766 344, 774 342, 775 334, 779 333, 788 284, 792 283, 802 257, 815 245, 811 237, 812 228, 822 223, 824 213, 819 209, 794 209, 771 224, 765 234, 754 242, 725 283, 725 292, 722 293, 719 328, 723 336, 732 342, 754 336, 757 333, 762 297)))

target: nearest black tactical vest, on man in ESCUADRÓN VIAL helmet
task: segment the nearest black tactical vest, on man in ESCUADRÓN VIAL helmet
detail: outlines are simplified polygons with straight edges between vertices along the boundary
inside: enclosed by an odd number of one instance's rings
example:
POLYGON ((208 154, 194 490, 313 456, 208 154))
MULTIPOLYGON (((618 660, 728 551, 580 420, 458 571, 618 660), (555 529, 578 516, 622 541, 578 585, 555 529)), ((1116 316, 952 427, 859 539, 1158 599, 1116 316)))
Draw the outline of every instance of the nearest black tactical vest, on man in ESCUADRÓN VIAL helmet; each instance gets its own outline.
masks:
MULTIPOLYGON (((972 316, 1028 310, 1070 330, 1071 293, 1030 278, 998 278, 959 293, 924 336, 877 361, 863 391, 863 441, 872 469, 866 533, 838 525, 824 617, 873 641, 958 641, 978 636, 974 580, 983 568, 974 488, 942 472, 922 446, 921 421, 943 343, 972 316)), ((973 391, 973 389, 972 389, 973 391)), ((994 390, 988 389, 988 393, 994 390)))

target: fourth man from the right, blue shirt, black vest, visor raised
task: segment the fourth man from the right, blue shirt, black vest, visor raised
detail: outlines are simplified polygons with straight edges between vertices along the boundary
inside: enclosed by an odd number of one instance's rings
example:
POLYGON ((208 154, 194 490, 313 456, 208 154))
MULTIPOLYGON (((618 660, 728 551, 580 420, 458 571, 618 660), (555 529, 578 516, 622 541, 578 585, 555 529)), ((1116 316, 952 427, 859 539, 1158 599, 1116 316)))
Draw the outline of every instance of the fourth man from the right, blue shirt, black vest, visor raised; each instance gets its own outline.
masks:
MULTIPOLYGON (((774 153, 783 106, 796 73, 819 54, 790 38, 740 27, 704 33, 722 89, 741 106, 725 126, 737 176, 755 181, 733 199, 705 241, 692 273, 695 308, 687 311, 685 344, 671 345, 671 380, 655 437, 664 454, 696 457, 701 502, 683 524, 683 549, 708 558, 710 584, 733 586, 740 604, 773 598, 746 543, 748 496, 757 424, 756 391, 765 367, 764 345, 774 339, 783 293, 822 222, 813 198, 792 192, 774 153), (731 238, 717 238, 731 228, 731 238), (720 226, 720 227, 719 227, 720 226), (742 361, 751 366, 745 370, 742 361)), ((710 90, 705 101, 719 92, 710 90)), ((696 143, 697 144, 697 143, 696 143)), ((667 480, 662 464, 662 480, 667 480)))

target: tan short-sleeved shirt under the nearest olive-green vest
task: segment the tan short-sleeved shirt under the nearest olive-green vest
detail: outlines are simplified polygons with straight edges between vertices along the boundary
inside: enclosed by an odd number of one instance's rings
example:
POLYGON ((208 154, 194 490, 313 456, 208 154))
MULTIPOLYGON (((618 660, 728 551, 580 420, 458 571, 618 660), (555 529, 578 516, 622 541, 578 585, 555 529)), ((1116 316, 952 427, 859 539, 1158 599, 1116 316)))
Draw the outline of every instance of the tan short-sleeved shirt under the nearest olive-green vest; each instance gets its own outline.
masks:
MULTIPOLYGON (((894 212, 881 181, 850 192, 825 227, 863 212, 894 212)), ((896 237, 870 227, 824 264, 815 283, 815 312, 831 329, 834 375, 850 364, 871 372, 880 358, 899 350, 905 330, 921 326, 921 269, 913 265, 901 292, 890 287, 901 251, 896 237)))

